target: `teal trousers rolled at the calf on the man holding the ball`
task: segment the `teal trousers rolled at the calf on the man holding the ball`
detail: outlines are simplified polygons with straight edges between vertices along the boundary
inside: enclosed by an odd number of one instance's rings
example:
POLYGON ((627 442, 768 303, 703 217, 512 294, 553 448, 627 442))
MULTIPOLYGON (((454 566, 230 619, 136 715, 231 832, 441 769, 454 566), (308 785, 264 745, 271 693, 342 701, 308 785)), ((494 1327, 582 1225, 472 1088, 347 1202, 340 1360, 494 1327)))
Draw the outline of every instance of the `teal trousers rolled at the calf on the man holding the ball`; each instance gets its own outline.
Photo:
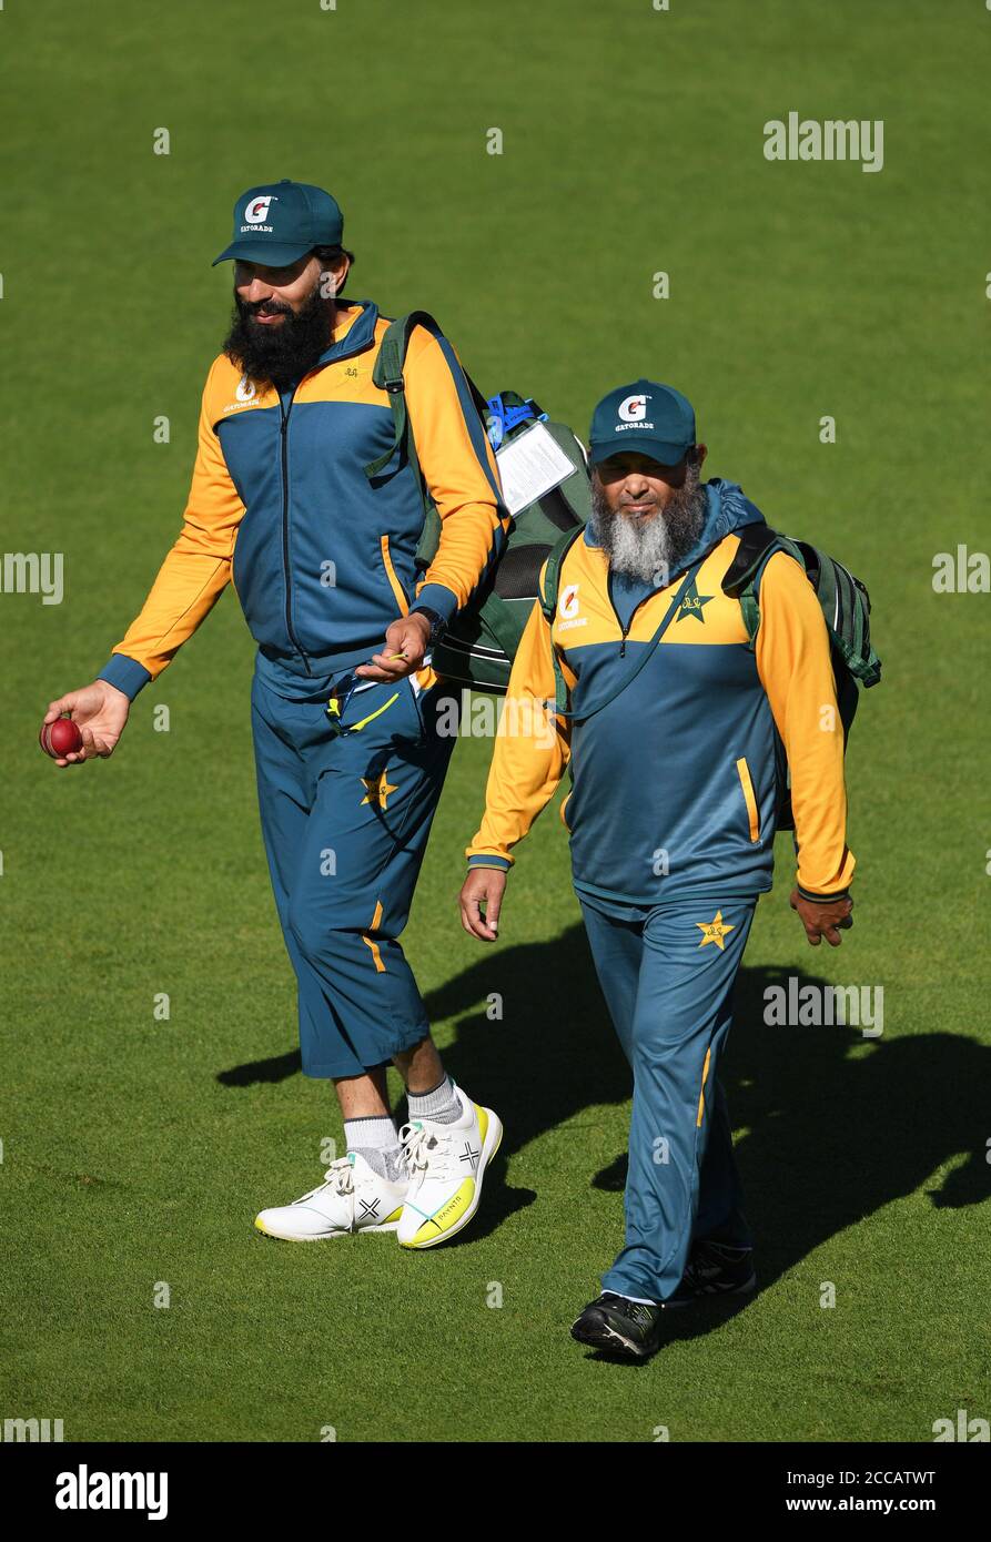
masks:
POLYGON ((261 828, 298 982, 307 1076, 358 1076, 429 1032, 400 945, 457 734, 443 683, 352 695, 338 734, 330 680, 289 686, 256 665, 261 828), (374 715, 372 715, 374 714, 374 715))

